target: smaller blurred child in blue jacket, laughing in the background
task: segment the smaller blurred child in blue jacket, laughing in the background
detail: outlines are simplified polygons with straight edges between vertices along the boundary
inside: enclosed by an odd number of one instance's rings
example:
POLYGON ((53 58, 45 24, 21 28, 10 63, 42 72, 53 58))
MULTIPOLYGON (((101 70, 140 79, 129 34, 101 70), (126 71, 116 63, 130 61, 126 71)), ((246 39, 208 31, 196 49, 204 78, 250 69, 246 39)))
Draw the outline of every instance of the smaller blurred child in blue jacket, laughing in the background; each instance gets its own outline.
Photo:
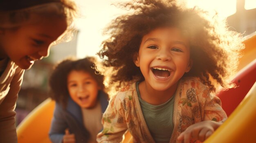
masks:
POLYGON ((49 84, 56 101, 49 132, 53 143, 97 143, 101 118, 108 106, 103 76, 93 68, 96 59, 66 59, 56 66, 49 84))

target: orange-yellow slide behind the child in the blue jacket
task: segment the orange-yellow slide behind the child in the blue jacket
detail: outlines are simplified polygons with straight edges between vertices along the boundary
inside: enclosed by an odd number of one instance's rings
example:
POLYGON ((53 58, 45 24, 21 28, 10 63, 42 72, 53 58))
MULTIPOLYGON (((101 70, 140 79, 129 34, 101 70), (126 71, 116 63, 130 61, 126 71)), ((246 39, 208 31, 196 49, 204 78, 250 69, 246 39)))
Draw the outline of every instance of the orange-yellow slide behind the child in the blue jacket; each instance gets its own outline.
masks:
MULTIPOLYGON (((48 132, 53 117, 55 101, 46 99, 30 112, 17 127, 18 143, 51 143, 48 132)), ((132 143, 126 132, 124 143, 132 143)))

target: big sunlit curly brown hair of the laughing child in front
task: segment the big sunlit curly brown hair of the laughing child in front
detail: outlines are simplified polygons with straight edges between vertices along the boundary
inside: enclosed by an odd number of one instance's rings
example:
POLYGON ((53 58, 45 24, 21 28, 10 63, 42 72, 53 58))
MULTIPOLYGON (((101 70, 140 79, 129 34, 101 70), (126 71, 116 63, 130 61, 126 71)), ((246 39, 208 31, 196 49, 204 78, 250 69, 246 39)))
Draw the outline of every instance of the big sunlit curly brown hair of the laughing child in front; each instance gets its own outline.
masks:
POLYGON ((244 48, 241 34, 229 31, 218 14, 211 17, 198 7, 186 8, 175 0, 137 0, 119 3, 119 7, 132 10, 132 14, 121 15, 106 28, 110 37, 102 42, 97 53, 104 59, 102 72, 111 69, 110 85, 144 80, 135 66, 135 55, 139 51, 144 35, 158 27, 176 27, 190 42, 193 66, 184 77, 199 77, 211 92, 216 87, 234 87, 230 84, 237 71, 240 51, 244 48), (107 58, 104 58, 104 57, 107 58))

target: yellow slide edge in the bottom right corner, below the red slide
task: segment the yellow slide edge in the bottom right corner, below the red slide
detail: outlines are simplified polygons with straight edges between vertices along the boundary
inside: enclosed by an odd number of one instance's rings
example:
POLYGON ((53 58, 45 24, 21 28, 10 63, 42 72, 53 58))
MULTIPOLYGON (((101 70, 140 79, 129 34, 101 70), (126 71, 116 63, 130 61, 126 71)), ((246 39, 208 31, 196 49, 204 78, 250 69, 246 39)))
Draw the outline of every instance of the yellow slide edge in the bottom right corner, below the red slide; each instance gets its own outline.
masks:
POLYGON ((239 106, 204 143, 255 143, 256 82, 239 106))

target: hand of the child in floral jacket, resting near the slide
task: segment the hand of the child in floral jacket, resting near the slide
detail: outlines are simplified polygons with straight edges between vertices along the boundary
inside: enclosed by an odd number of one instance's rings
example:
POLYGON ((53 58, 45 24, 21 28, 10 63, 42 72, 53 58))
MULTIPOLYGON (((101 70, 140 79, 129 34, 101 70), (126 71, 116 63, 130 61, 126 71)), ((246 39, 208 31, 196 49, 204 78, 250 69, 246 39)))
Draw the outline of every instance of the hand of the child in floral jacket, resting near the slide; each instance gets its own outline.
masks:
POLYGON ((199 140, 201 142, 205 141, 213 132, 221 125, 215 121, 202 121, 189 126, 184 132, 178 136, 178 141, 183 141, 184 143, 190 143, 190 140, 199 140))

